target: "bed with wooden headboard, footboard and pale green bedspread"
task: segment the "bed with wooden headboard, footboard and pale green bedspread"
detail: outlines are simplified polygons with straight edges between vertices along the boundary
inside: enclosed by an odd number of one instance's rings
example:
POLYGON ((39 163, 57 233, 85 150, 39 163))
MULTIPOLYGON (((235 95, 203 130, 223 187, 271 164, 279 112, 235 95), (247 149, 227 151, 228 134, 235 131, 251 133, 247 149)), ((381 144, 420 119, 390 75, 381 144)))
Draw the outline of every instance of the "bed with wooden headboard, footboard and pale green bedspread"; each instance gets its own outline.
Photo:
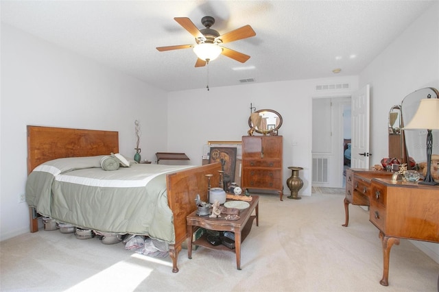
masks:
MULTIPOLYGON (((211 178, 211 185, 215 186, 218 184, 218 171, 221 170, 221 164, 214 163, 200 167, 185 166, 185 169, 182 169, 182 166, 178 166, 173 169, 169 165, 139 164, 128 168, 121 167, 121 169, 117 171, 104 171, 99 169, 99 167, 93 167, 96 161, 100 160, 102 156, 108 156, 111 153, 118 152, 118 132, 28 125, 28 178, 36 177, 34 173, 37 172, 40 174, 44 173, 44 171, 41 171, 41 169, 56 169, 56 167, 62 171, 66 171, 64 174, 71 175, 71 177, 81 177, 85 175, 84 173, 89 173, 89 171, 93 170, 93 172, 100 171, 101 173, 105 173, 105 175, 113 176, 115 173, 117 173, 117 175, 120 173, 120 175, 126 176, 126 178, 135 180, 136 182, 145 179, 132 178, 130 171, 137 173, 135 175, 142 175, 144 172, 154 172, 156 173, 156 175, 153 175, 154 178, 146 179, 150 182, 147 183, 146 187, 138 186, 137 192, 142 192, 141 190, 144 189, 145 193, 152 193, 150 186, 154 186, 154 188, 158 190, 158 193, 160 193, 160 198, 152 202, 156 210, 150 212, 145 211, 144 208, 139 208, 139 206, 143 206, 143 204, 147 204, 146 202, 149 202, 147 200, 144 202, 142 195, 140 195, 141 201, 139 201, 139 199, 126 199, 123 204, 120 204, 120 202, 117 203, 118 201, 116 199, 102 199, 102 201, 99 201, 99 199, 104 196, 92 194, 88 187, 82 187, 80 191, 73 191, 71 194, 68 193, 69 188, 62 188, 62 196, 57 195, 58 192, 56 190, 61 187, 57 185, 54 186, 54 189, 52 189, 53 182, 58 182, 57 177, 56 180, 53 179, 51 181, 49 180, 49 182, 45 182, 45 184, 49 185, 49 193, 47 193, 47 191, 46 193, 41 191, 43 189, 42 186, 38 186, 38 192, 34 193, 38 193, 37 195, 40 197, 38 197, 38 199, 35 197, 29 198, 30 230, 31 232, 38 231, 38 212, 43 212, 45 213, 43 215, 49 215, 50 217, 54 217, 54 219, 58 219, 59 221, 67 221, 67 223, 71 223, 72 225, 78 227, 99 230, 104 228, 102 227, 102 223, 104 223, 107 224, 104 229, 108 230, 100 231, 144 234, 149 236, 149 228, 152 227, 147 226, 145 221, 143 221, 143 219, 148 217, 150 221, 161 221, 159 223, 163 223, 168 226, 171 225, 171 238, 169 237, 169 232, 165 232, 165 235, 161 234, 160 232, 156 232, 154 237, 169 243, 169 256, 171 256, 173 266, 172 271, 176 273, 178 272, 178 253, 181 250, 182 243, 187 239, 186 217, 195 210, 196 195, 200 195, 204 201, 207 200, 208 181, 205 175, 208 173, 213 174, 213 177, 211 178), (69 162, 71 158, 75 158, 74 161, 78 161, 76 158, 80 158, 80 165, 84 165, 85 163, 86 167, 77 167, 73 165, 71 167, 72 169, 68 169, 68 167, 66 168, 64 162, 69 162), (82 161, 83 158, 86 162, 82 161), (62 164, 60 164, 61 162, 62 164), (53 163, 58 164, 53 165, 53 163), (88 164, 91 164, 92 167, 89 168, 88 164), (34 169, 36 171, 34 171, 34 169), (38 169, 39 171, 37 171, 38 169), (34 172, 31 175, 32 171, 34 172), (91 197, 93 197, 93 199, 91 199, 91 197), (85 201, 82 202, 82 199, 85 199, 85 201), (165 199, 164 203, 163 199, 165 199), (60 204, 55 204, 54 202, 62 202, 61 207, 60 204), (100 203, 102 203, 101 208, 106 210, 108 217, 111 218, 111 224, 108 224, 108 220, 107 222, 105 220, 101 220, 102 222, 99 222, 99 220, 96 220, 96 218, 93 217, 94 212, 99 214, 96 206, 100 206, 100 203), (87 209, 87 207, 90 207, 91 204, 97 204, 95 205, 93 211, 87 209), (38 205, 38 207, 36 205, 38 205), (132 214, 130 217, 135 218, 132 221, 138 222, 137 224, 135 222, 134 224, 132 222, 128 224, 126 223, 125 219, 117 219, 117 216, 112 216, 111 212, 108 212, 108 210, 117 210, 118 213, 121 212, 119 209, 120 205, 123 205, 123 210, 126 211, 126 214, 132 214), (163 209, 158 209, 158 205, 165 206, 163 206, 163 209), (84 212, 85 215, 83 215, 82 212, 84 212), (131 229, 128 230, 127 228, 131 229)), ((45 175, 47 175, 47 173, 45 173, 45 175)), ((34 178, 34 180, 38 182, 40 178, 34 178)), ((41 182, 42 181, 43 178, 41 178, 41 182)), ((76 183, 72 182, 71 180, 67 181, 70 184, 76 183)), ((117 190, 111 189, 110 193, 114 196, 117 196, 118 194, 123 196, 126 195, 126 193, 124 193, 126 192, 124 189, 125 188, 117 187, 117 190)), ((143 197, 149 197, 149 195, 150 194, 148 193, 148 196, 143 195, 143 197)), ((27 193, 26 197, 28 197, 27 193)), ((102 215, 97 217, 102 217, 102 215)))

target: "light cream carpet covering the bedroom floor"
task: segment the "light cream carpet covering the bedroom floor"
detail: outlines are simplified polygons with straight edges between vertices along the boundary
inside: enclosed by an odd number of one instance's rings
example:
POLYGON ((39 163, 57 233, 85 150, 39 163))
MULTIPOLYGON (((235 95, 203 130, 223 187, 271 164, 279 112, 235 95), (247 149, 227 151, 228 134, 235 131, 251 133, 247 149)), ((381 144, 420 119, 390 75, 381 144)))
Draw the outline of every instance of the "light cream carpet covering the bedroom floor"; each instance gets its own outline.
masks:
MULTIPOLYGON (((284 196, 285 197, 285 196, 284 196)), ((348 228, 343 197, 314 194, 283 202, 263 195, 259 227, 241 250, 199 247, 180 272, 170 258, 129 252, 122 243, 78 240, 58 231, 23 234, 0 243, 1 291, 438 291, 439 264, 410 241, 394 245, 389 286, 379 284, 382 250, 368 212, 351 206, 348 228)))

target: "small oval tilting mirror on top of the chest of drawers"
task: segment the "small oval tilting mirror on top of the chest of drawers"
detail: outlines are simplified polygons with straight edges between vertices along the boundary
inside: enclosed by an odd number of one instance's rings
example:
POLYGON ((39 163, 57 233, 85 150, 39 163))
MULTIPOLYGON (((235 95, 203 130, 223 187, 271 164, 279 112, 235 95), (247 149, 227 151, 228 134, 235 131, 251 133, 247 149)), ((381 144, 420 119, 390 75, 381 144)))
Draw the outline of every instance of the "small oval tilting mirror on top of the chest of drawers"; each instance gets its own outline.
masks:
POLYGON ((282 116, 276 110, 257 110, 248 118, 250 128, 260 134, 270 134, 279 130, 282 125, 282 116))

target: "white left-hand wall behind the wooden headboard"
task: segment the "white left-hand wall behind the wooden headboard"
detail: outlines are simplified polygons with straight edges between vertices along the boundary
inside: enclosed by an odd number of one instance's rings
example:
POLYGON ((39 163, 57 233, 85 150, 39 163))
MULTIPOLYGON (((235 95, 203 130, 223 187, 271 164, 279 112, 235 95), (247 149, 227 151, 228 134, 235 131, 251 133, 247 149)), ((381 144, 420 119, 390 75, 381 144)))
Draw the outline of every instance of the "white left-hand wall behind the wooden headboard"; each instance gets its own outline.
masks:
POLYGON ((167 145, 163 91, 2 23, 0 239, 29 232, 27 205, 18 203, 27 178, 26 125, 119 131, 119 151, 132 158, 135 119, 141 154, 154 160, 167 145))

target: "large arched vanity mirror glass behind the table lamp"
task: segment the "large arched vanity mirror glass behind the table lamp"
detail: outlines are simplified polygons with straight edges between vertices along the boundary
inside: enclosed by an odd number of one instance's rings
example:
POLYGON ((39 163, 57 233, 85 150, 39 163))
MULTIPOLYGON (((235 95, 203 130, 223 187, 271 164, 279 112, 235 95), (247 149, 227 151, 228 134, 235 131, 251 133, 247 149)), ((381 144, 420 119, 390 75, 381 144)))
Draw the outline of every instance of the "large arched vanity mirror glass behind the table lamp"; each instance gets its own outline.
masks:
MULTIPOLYGON (((404 97, 401 103, 401 124, 402 127, 412 121, 416 110, 420 104, 420 99, 438 98, 439 92, 436 88, 427 87, 410 93, 404 97)), ((433 143, 437 145, 439 141, 439 132, 434 131, 433 143)), ((416 164, 427 160, 427 129, 425 130, 404 130, 403 137, 405 140, 405 162, 412 157, 416 164)), ((433 154, 439 154, 439 147, 433 145, 433 154)), ((410 163, 407 163, 409 169, 410 163)))

